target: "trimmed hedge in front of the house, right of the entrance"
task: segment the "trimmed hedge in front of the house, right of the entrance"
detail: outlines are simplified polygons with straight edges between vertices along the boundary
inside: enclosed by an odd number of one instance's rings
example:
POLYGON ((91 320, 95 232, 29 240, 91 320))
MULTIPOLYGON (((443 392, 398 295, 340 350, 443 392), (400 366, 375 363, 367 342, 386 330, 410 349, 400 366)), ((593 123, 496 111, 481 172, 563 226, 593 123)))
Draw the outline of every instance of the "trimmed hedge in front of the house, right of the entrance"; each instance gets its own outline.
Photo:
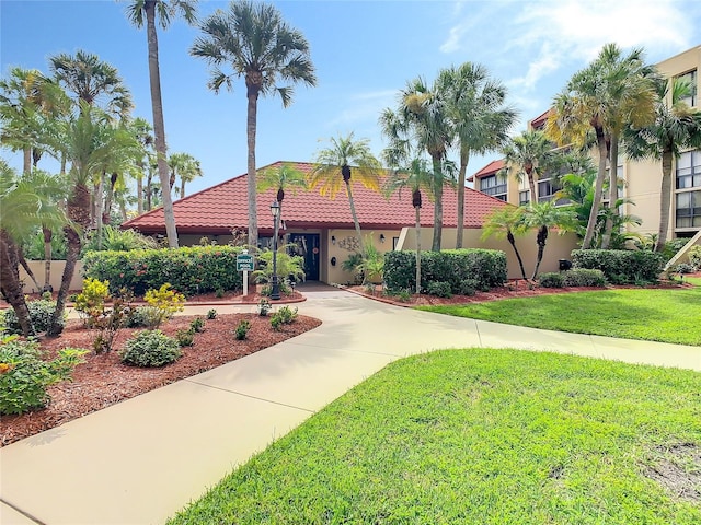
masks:
MULTIPOLYGON (((416 278, 415 252, 384 254, 384 283, 392 293, 414 290, 416 278)), ((490 290, 506 282, 506 254, 495 249, 448 249, 422 252, 421 290, 428 292, 432 282, 446 282, 450 293, 490 290)))

